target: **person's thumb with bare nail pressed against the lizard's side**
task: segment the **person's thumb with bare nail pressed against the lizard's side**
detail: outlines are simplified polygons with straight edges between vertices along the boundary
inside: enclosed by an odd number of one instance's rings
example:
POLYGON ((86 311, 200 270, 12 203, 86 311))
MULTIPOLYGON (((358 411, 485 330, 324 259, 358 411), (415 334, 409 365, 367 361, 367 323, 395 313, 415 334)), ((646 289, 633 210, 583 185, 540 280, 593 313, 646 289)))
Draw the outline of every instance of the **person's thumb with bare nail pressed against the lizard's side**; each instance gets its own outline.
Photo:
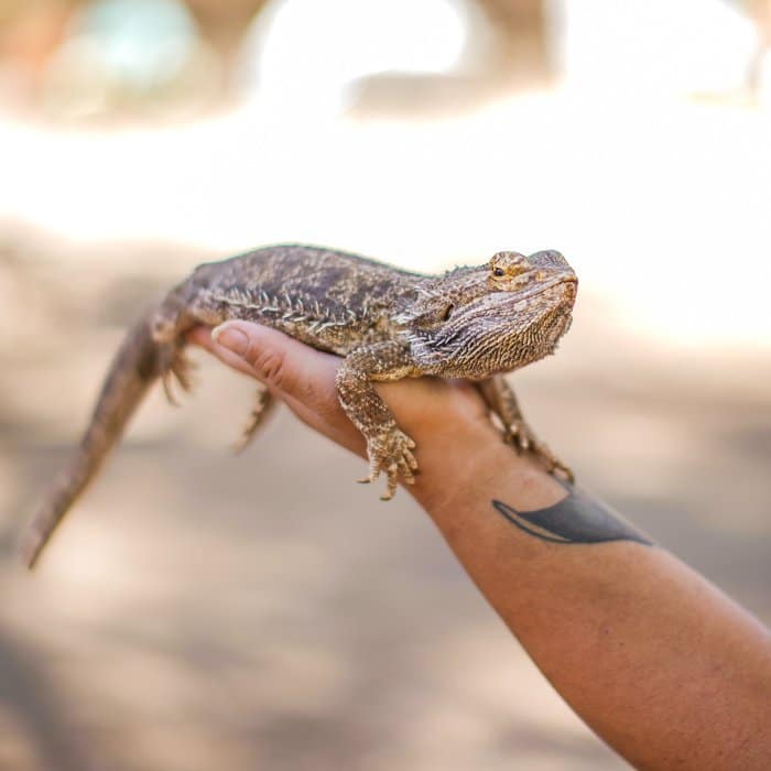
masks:
POLYGON ((251 322, 226 322, 211 332, 214 352, 241 371, 253 374, 281 399, 308 401, 334 391, 336 357, 322 354, 276 329, 251 322))

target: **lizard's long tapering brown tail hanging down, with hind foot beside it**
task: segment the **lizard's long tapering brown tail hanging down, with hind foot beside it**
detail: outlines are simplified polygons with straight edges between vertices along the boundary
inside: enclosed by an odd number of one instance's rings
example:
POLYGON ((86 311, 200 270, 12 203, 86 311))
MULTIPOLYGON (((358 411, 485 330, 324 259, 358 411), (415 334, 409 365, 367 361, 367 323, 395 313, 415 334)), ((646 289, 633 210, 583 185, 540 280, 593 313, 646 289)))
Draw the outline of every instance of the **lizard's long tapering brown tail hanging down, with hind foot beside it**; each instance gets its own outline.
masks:
POLYGON ((150 386, 161 374, 165 384, 167 372, 187 386, 182 341, 156 343, 151 319, 151 314, 144 316, 123 339, 76 454, 52 485, 23 535, 21 552, 29 568, 34 567, 54 530, 96 476, 150 386))

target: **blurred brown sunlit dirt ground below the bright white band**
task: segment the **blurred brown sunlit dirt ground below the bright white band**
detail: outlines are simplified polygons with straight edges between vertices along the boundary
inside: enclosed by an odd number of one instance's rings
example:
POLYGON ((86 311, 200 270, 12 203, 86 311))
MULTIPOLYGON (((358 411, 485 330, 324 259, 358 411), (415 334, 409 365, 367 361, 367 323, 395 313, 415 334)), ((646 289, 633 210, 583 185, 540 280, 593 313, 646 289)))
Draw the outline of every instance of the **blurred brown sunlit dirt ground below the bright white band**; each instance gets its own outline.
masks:
MULTIPOLYGON (((0 768, 626 768, 406 495, 378 501, 352 484, 362 461, 285 412, 232 457, 252 387, 203 354, 197 395, 153 394, 40 571, 21 569, 19 529, 122 327, 178 274, 177 251, 148 251, 154 274, 120 250, 0 254, 0 768)), ((771 621, 768 357, 616 327, 580 297, 560 355, 513 378, 532 423, 584 486, 771 621)))

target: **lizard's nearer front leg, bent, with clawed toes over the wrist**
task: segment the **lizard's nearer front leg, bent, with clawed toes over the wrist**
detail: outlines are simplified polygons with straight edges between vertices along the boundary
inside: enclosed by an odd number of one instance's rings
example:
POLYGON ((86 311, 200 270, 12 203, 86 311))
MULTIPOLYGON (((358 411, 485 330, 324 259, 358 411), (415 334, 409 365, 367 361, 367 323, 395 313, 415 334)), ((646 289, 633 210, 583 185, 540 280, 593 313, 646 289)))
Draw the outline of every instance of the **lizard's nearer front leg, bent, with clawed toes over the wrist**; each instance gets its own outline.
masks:
POLYGON ((388 489, 381 500, 393 498, 400 473, 408 485, 414 482, 417 461, 412 454, 415 443, 399 428, 373 381, 401 380, 414 371, 409 348, 394 340, 356 348, 337 370, 335 383, 340 404, 367 439, 369 476, 361 481, 374 481, 381 471, 388 476, 388 489))

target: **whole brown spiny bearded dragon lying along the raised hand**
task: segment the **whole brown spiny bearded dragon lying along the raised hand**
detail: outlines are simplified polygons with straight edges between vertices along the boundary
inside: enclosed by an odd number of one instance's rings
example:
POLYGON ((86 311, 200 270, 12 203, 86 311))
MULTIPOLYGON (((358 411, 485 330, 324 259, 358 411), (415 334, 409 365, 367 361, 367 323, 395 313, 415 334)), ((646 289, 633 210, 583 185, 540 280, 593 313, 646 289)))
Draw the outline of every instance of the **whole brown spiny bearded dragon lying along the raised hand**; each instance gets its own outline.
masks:
MULTIPOLYGON (((231 319, 267 325, 343 357, 338 399, 367 442, 369 473, 360 481, 384 473, 383 500, 393 497, 400 478, 414 482, 417 460, 415 443, 374 383, 421 376, 476 383, 504 439, 572 480, 571 469, 525 422, 503 376, 555 350, 569 328, 576 292, 574 270, 552 250, 529 257, 500 251, 481 265, 438 275, 303 245, 264 247, 198 265, 126 335, 79 447, 25 532, 23 558, 34 566, 151 384, 160 379, 172 403, 174 382, 191 389, 186 334, 231 319)), ((271 399, 260 390, 241 446, 257 432, 271 399)))

